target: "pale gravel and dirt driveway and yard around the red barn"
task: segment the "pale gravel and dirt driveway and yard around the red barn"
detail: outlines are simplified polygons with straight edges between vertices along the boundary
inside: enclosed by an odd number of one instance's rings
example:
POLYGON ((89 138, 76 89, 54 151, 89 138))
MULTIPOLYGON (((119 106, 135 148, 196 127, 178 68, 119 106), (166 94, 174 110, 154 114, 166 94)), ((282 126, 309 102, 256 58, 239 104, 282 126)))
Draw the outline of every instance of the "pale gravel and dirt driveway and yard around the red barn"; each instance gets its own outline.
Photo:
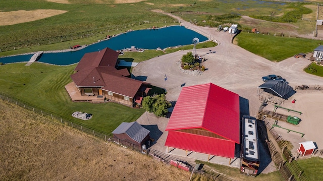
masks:
MULTIPOLYGON (((160 11, 155 11, 160 12, 160 11)), ((188 29, 192 29, 210 40, 218 42, 218 46, 213 48, 197 49, 196 53, 206 58, 203 65, 207 68, 206 71, 200 76, 192 76, 181 72, 177 63, 181 57, 191 50, 178 51, 171 54, 165 54, 162 56, 154 57, 148 61, 139 63, 132 71, 134 76, 147 76, 147 82, 154 86, 165 88, 167 90, 167 99, 169 101, 177 100, 180 92, 181 85, 192 86, 204 83, 213 83, 226 88, 239 94, 241 97, 248 99, 250 115, 256 116, 261 101, 258 100, 257 87, 263 82, 262 76, 268 74, 281 75, 285 78, 289 85, 295 87, 296 85, 323 85, 323 78, 307 74, 303 69, 310 64, 307 58, 294 57, 287 58, 280 63, 274 63, 267 59, 255 55, 235 44, 231 43, 233 35, 227 32, 217 32, 215 28, 198 27, 189 22, 182 20, 179 17, 175 17, 172 14, 165 13, 173 18, 176 18, 181 22, 182 26, 188 29), (215 53, 210 53, 215 51, 215 53), (167 75, 168 79, 164 80, 164 75, 167 75)), ((277 131, 281 133, 284 139, 291 140, 294 145, 293 152, 299 147, 298 143, 304 140, 316 142, 319 149, 323 149, 323 140, 317 139, 320 135, 320 129, 323 125, 320 123, 320 112, 316 110, 321 106, 319 100, 322 100, 323 93, 321 91, 312 91, 306 93, 304 91, 298 91, 290 100, 286 100, 286 103, 282 106, 292 107, 296 110, 303 112, 302 122, 295 127, 294 125, 284 125, 286 128, 295 129, 305 134, 303 138, 299 135, 295 137, 295 134, 289 134, 286 130, 277 131), (316 99, 315 96, 318 98, 316 99), (292 99, 298 101, 294 104, 291 103, 292 99), (318 126, 318 127, 317 127, 318 126)), ((268 110, 272 108, 268 107, 268 110)), ((286 114, 290 115, 290 112, 286 114)), ((149 115, 149 114, 148 114, 149 115)), ((165 132, 165 127, 168 122, 168 118, 159 118, 158 120, 154 116, 144 114, 138 119, 138 122, 142 125, 154 123, 158 126, 158 129, 165 132), (163 124, 159 124, 163 122, 163 124)), ((275 128, 276 129, 276 128, 275 128)), ((161 135, 157 144, 154 145, 154 149, 160 149, 165 151, 164 146, 167 133, 161 135)), ((295 154, 296 155, 296 154, 295 154)), ((271 172, 275 170, 272 164, 268 165, 263 173, 271 172)))

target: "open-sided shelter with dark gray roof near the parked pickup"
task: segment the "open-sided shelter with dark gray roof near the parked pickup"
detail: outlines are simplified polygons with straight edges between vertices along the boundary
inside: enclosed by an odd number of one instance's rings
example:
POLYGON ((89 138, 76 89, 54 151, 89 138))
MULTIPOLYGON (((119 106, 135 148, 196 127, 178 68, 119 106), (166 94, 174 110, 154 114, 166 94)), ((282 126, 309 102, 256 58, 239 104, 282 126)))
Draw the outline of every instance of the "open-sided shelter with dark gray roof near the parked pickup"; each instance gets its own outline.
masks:
POLYGON ((285 100, 296 93, 291 86, 281 80, 266 81, 258 87, 258 95, 260 95, 261 92, 267 92, 285 100))

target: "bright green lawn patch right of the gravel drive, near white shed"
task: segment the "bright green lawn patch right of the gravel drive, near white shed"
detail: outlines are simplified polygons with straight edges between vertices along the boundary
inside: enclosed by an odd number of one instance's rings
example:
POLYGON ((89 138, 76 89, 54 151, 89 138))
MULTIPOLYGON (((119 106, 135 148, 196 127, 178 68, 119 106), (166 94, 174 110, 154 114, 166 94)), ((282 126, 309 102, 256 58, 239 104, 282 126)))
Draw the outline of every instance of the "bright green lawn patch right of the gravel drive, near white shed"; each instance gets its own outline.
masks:
POLYGON ((267 58, 270 61, 283 61, 300 52, 313 51, 322 40, 289 38, 242 32, 236 36, 238 45, 242 48, 267 58))

